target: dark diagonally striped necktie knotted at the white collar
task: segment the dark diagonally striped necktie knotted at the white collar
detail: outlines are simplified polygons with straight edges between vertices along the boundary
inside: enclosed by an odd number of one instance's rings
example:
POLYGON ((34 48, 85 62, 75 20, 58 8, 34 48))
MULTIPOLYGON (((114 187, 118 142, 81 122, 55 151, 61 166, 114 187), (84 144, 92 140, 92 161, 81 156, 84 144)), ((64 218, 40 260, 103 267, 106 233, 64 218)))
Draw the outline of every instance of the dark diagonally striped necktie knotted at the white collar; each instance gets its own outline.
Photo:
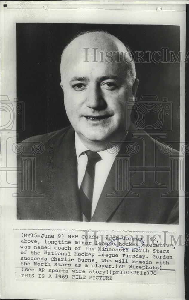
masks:
POLYGON ((85 215, 86 219, 90 221, 95 179, 95 166, 96 163, 101 160, 101 156, 97 152, 93 152, 90 150, 85 151, 85 153, 88 157, 88 161, 85 170, 85 175, 80 186, 79 195, 82 212, 85 215))

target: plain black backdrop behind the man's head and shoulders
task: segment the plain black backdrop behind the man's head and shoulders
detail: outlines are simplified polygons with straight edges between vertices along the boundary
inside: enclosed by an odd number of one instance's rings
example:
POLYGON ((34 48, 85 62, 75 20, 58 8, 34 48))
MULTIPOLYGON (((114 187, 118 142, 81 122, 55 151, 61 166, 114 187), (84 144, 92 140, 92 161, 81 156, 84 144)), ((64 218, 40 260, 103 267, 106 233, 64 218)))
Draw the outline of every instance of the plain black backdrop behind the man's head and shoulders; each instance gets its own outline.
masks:
MULTIPOLYGON (((131 51, 180 50, 180 27, 166 25, 107 25, 17 23, 17 97, 24 102, 24 131, 18 141, 70 125, 60 87, 60 56, 82 30, 101 29, 117 36, 131 51)), ((77 55, 77 53, 76 53, 77 55)), ((157 57, 158 58, 158 57, 157 57)), ((161 142, 179 141, 179 63, 137 63, 137 97, 157 95, 173 103, 173 131, 161 142)), ((148 118, 153 118, 149 113, 148 118)), ((21 127, 21 118, 17 128, 21 127)), ((164 122, 169 123, 167 118, 164 122)), ((179 145, 174 145, 179 149, 179 145)))

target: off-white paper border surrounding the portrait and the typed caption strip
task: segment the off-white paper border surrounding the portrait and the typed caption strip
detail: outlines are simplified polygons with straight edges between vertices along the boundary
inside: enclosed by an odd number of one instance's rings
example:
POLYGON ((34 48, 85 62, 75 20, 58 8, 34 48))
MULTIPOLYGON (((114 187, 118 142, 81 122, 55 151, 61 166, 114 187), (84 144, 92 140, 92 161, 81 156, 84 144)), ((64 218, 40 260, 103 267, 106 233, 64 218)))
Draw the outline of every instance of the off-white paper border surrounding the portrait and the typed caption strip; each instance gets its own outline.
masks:
MULTIPOLYGON (((106 23, 179 25, 181 51, 185 53, 185 4, 128 4, 128 1, 101 1, 92 9, 85 1, 2 1, 1 2, 1 95, 16 98, 16 23, 106 23), (108 3, 109 2, 109 3, 108 3), (110 3, 111 2, 111 3, 110 3), (124 2, 124 5, 123 5, 124 2), (73 4, 72 4, 73 3, 73 4), (115 4, 113 4, 115 3, 115 4), (7 7, 3 8, 3 4, 7 7), (56 7, 55 4, 59 4, 56 7), (13 6, 12 6, 13 5, 13 6), (43 9, 48 6, 48 9, 43 9), (75 9, 74 9, 75 7, 75 9), (156 7, 162 7, 157 11, 156 7), (57 9, 58 8, 58 9, 57 9)), ((89 3, 89 1, 87 1, 89 3)), ((99 1, 98 1, 99 2, 99 1)), ((129 1, 130 2, 130 1, 129 1)), ((153 1, 154 2, 154 1, 153 1)), ((157 1, 158 2, 158 1, 157 1)), ((181 2, 181 1, 180 1, 181 2)), ((187 1, 185 1, 187 2, 187 1)), ((144 1, 143 1, 144 3, 144 1)), ((183 54, 183 57, 185 55, 183 54)), ((185 141, 185 65, 180 64, 180 140, 185 141)), ((5 116, 6 118, 6 116, 5 116)), ((8 116, 7 116, 8 118, 8 116)), ((4 120, 3 120, 4 123, 4 120)), ((16 121, 11 132, 1 134, 1 167, 8 157, 8 182, 16 184, 16 121), (14 131, 13 131, 14 130, 14 131), (8 140, 7 140, 8 138, 8 140)), ((5 186, 6 172, 1 172, 5 186)), ((176 262, 176 285, 123 283, 17 282, 15 279, 13 229, 83 229, 177 231, 184 233, 184 198, 180 198, 179 225, 124 223, 82 223, 16 220, 16 188, 1 190, 1 298, 10 299, 184 299, 184 247, 176 262)))

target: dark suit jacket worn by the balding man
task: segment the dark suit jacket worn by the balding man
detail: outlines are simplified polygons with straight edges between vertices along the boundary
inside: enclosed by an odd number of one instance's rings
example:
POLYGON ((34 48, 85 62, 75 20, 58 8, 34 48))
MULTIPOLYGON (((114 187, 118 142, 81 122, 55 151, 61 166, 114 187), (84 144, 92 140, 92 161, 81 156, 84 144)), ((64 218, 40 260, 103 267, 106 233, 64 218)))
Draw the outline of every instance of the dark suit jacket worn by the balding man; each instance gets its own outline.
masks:
MULTIPOLYGON (((74 134, 68 127, 18 144, 18 219, 82 221, 74 134)), ((178 224, 178 161, 131 125, 91 221, 178 224)))

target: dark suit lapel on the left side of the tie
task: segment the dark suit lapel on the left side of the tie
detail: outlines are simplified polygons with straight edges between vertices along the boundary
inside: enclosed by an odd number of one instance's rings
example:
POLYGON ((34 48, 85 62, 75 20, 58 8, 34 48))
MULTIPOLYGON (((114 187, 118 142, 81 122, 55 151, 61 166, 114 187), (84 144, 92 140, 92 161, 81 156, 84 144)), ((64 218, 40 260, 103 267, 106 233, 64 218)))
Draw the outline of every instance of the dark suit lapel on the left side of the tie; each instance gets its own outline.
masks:
POLYGON ((77 185, 77 157, 75 132, 71 127, 60 146, 57 158, 57 189, 71 221, 81 221, 77 185))

